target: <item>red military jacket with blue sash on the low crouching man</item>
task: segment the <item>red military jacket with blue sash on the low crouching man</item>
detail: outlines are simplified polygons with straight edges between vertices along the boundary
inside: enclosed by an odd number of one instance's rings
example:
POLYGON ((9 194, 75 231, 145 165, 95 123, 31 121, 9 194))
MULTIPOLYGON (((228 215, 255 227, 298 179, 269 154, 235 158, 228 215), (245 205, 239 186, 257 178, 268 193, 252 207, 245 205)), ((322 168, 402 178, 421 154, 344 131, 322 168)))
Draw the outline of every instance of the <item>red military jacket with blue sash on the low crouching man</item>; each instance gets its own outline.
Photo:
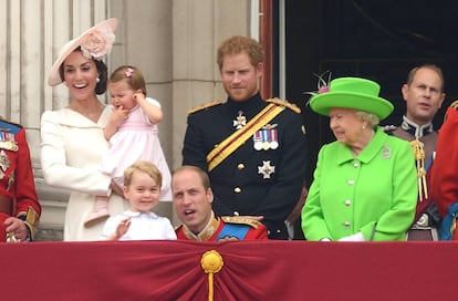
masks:
POLYGON ((268 239, 266 226, 241 217, 214 217, 200 233, 192 233, 185 225, 176 230, 177 239, 223 241, 268 239))

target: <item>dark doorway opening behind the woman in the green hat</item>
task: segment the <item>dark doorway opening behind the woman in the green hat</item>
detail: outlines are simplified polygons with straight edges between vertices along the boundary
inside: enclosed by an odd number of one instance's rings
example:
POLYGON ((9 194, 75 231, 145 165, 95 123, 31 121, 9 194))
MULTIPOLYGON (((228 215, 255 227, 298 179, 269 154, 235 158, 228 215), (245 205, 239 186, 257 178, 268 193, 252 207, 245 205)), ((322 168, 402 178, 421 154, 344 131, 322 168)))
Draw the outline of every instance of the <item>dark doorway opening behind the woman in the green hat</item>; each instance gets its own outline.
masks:
POLYGON ((333 141, 327 118, 306 106, 304 92, 315 91, 318 77, 362 76, 378 82, 381 95, 395 105, 382 124, 398 125, 405 111, 400 86, 408 71, 435 63, 445 75, 447 97, 436 116, 439 128, 446 107, 457 98, 456 1, 309 0, 285 1, 287 98, 302 111, 309 139, 308 184, 318 152, 333 141))

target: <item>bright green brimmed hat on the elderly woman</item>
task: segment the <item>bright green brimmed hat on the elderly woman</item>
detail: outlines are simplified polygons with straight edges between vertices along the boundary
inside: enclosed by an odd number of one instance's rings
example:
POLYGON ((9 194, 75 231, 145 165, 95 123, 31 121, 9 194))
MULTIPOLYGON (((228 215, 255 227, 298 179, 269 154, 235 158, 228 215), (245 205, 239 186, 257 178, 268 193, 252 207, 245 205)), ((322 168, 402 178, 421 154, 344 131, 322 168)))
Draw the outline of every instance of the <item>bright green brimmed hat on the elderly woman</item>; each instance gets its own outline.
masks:
POLYGON ((381 120, 392 114, 394 106, 378 96, 381 86, 373 81, 360 77, 341 77, 331 81, 329 92, 315 94, 310 107, 329 116, 331 107, 345 107, 377 115, 381 120))

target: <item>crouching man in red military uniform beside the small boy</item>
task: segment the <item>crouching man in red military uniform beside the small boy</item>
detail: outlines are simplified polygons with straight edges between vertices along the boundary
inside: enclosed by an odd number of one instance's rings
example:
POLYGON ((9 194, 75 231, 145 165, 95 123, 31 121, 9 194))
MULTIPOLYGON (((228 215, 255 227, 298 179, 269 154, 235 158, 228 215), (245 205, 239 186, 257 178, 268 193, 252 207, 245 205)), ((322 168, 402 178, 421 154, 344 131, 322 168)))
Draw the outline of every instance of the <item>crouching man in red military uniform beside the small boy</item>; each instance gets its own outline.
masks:
POLYGON ((208 175, 196 166, 181 166, 171 177, 174 207, 183 225, 178 239, 199 241, 268 239, 266 226, 241 217, 217 217, 208 175))

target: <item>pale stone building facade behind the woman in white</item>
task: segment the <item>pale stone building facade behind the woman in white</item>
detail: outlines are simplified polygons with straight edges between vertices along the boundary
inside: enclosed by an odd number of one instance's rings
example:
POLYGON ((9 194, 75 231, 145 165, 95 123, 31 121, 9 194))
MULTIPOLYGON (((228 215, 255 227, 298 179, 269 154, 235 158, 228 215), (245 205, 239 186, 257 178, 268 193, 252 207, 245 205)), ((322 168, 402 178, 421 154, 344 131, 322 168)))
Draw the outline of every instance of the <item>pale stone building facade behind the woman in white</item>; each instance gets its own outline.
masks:
MULTIPOLYGON (((61 46, 102 20, 119 19, 108 72, 122 64, 143 71, 148 95, 163 106, 160 142, 174 169, 181 164, 188 110, 226 97, 218 44, 233 34, 258 38, 259 15, 259 0, 0 0, 0 115, 28 132, 43 206, 40 229, 58 232, 50 239, 60 239, 67 191, 42 177, 40 117, 69 102, 63 85, 46 83, 61 46)), ((159 210, 171 218, 170 204, 159 210)))

